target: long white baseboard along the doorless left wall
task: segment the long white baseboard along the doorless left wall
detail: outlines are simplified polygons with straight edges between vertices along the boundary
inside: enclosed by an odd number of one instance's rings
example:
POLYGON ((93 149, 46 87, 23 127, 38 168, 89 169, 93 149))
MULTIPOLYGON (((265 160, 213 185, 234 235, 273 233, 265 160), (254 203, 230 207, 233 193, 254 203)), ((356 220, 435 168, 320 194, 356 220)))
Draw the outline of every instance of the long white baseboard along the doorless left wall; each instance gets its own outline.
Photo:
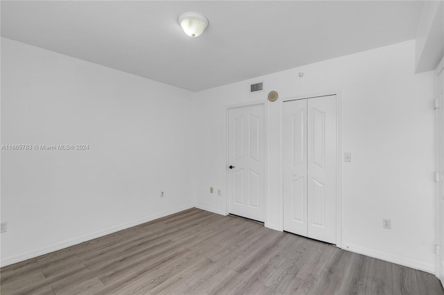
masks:
POLYGON ((0 266, 1 267, 5 267, 6 265, 12 265, 13 263, 21 262, 21 261, 24 261, 24 260, 27 260, 27 259, 30 259, 30 258, 35 258, 37 256, 41 256, 41 255, 44 255, 44 254, 47 254, 47 253, 51 253, 53 251, 58 251, 60 249, 64 249, 64 248, 67 248, 67 247, 74 246, 75 244, 80 244, 80 243, 85 242, 85 241, 89 241, 89 240, 92 240, 92 239, 95 239, 95 238, 99 238, 99 237, 102 237, 103 235, 109 235, 110 233, 115 233, 117 231, 121 231, 122 229, 128 229, 130 227, 137 226, 139 224, 143 224, 145 222, 151 222, 153 220, 157 220, 158 218, 165 217, 165 216, 168 216, 168 215, 171 215, 171 214, 174 214, 174 213, 178 213, 178 212, 181 212, 181 211, 185 211, 185 210, 190 209, 190 208, 194 208, 194 204, 189 204, 187 206, 182 206, 182 207, 174 208, 172 210, 165 211, 165 212, 162 212, 162 213, 158 213, 158 214, 155 214, 155 215, 151 215, 151 216, 148 216, 148 217, 144 217, 142 219, 135 220, 133 222, 128 222, 126 224, 120 224, 119 226, 112 226, 112 227, 110 227, 108 229, 104 229, 103 231, 96 231, 95 233, 90 233, 88 235, 83 235, 83 236, 78 237, 78 238, 65 240, 63 242, 58 242, 57 244, 53 244, 53 245, 48 246, 48 247, 43 247, 43 248, 40 248, 40 249, 36 249, 36 250, 33 250, 33 251, 29 251, 29 252, 22 253, 22 254, 19 254, 19 255, 15 255, 15 256, 11 256, 11 257, 1 258, 0 266))

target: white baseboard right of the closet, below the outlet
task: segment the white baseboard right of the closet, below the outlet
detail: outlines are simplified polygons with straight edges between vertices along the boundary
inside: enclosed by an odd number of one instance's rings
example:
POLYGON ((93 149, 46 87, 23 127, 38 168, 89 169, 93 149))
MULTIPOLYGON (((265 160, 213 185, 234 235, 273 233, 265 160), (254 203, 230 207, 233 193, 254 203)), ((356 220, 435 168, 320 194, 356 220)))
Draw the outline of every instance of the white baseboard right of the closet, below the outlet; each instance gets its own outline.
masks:
POLYGON ((421 271, 426 271, 430 274, 435 274, 435 265, 433 263, 426 263, 420 260, 414 260, 411 258, 406 258, 402 256, 395 256, 389 253, 384 253, 382 251, 377 251, 373 249, 368 249, 352 244, 343 244, 343 250, 352 251, 365 256, 370 256, 373 258, 385 260, 388 262, 395 263, 397 265, 404 265, 404 267, 411 267, 413 269, 419 269, 421 271))

